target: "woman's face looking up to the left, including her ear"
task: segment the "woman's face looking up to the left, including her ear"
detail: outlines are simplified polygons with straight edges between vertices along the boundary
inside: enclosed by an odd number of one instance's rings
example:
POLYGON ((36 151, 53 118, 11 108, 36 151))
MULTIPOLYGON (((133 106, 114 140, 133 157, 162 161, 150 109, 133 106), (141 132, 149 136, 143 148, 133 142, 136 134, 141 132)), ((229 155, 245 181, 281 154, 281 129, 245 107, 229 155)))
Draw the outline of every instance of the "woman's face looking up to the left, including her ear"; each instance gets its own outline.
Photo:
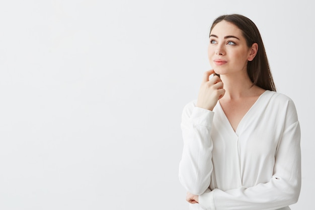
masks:
POLYGON ((252 60, 253 50, 247 46, 241 29, 221 21, 214 26, 209 39, 208 58, 215 73, 247 73, 247 61, 252 60))

